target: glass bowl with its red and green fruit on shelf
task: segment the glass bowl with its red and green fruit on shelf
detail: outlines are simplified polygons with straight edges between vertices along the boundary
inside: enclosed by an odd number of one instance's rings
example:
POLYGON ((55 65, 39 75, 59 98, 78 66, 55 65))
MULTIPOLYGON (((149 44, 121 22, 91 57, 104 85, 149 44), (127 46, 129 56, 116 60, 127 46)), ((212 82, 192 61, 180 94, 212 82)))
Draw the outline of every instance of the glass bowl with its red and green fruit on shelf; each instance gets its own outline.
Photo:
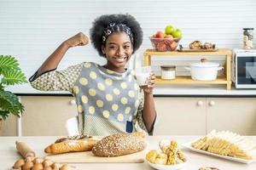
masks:
POLYGON ((178 42, 182 38, 182 31, 174 29, 173 26, 166 26, 165 33, 157 31, 152 37, 149 37, 153 48, 156 51, 174 51, 178 42))

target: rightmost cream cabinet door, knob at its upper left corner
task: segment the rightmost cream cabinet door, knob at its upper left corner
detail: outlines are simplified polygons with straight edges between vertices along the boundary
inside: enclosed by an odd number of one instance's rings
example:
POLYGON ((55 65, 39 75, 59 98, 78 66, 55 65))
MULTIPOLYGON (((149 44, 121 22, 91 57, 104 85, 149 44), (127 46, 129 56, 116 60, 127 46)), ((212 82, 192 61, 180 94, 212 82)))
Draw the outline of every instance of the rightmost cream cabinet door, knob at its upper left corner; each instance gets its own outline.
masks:
POLYGON ((207 133, 212 129, 256 135, 256 98, 208 98, 207 133))

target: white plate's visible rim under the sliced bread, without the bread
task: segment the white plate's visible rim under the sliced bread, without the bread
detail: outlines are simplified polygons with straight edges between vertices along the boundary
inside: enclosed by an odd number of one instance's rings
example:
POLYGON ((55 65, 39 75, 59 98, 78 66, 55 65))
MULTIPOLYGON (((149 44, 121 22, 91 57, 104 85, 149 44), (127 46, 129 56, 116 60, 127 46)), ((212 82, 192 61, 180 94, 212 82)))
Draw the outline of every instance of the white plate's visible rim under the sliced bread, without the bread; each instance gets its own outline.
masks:
POLYGON ((206 150, 198 150, 198 149, 195 149, 191 146, 193 142, 189 142, 189 143, 186 143, 186 144, 182 144, 185 148, 188 148, 189 150, 193 150, 193 151, 196 151, 196 152, 199 152, 199 153, 202 153, 202 154, 206 154, 206 155, 209 155, 209 156, 217 156, 217 157, 221 157, 221 158, 224 158, 224 159, 227 159, 227 160, 230 160, 230 161, 238 161, 238 162, 241 162, 241 163, 252 163, 254 161, 256 161, 255 159, 254 160, 245 160, 245 159, 241 159, 241 158, 237 158, 237 157, 231 157, 231 156, 221 156, 221 155, 218 155, 218 154, 214 154, 214 153, 211 153, 211 152, 208 152, 206 150))

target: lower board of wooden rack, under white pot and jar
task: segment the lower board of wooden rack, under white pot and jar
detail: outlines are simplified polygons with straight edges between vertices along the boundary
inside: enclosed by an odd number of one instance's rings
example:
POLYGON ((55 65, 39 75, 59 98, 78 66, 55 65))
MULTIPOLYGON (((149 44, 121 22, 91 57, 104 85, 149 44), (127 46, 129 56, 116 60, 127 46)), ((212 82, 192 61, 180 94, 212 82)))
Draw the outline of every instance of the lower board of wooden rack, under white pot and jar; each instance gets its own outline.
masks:
POLYGON ((158 76, 155 79, 156 84, 227 84, 227 82, 225 77, 218 77, 214 81, 195 81, 190 76, 180 76, 173 80, 164 80, 158 76))

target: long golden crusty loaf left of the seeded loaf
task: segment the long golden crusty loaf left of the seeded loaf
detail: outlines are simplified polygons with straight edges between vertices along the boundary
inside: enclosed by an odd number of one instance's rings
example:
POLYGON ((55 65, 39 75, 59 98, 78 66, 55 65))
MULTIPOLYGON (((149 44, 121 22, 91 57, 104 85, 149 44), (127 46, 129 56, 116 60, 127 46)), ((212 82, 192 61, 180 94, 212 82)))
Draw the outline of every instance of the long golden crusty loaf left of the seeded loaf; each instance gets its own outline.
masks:
POLYGON ((49 154, 61 154, 75 151, 87 151, 91 150, 94 144, 100 139, 92 138, 87 135, 71 136, 67 138, 57 139, 55 144, 50 144, 44 150, 49 154))

